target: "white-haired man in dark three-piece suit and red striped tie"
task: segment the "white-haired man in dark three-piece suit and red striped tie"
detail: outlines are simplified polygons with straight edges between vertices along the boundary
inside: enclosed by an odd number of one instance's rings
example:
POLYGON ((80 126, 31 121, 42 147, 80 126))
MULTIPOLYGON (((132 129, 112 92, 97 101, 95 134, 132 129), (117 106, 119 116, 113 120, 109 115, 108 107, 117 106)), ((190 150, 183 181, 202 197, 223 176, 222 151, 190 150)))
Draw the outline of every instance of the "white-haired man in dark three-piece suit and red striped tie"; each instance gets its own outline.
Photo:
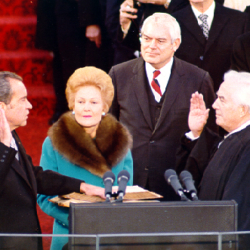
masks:
MULTIPOLYGON (((164 172, 175 166, 180 136, 188 128, 191 94, 201 91, 210 105, 215 98, 209 74, 174 57, 180 43, 176 20, 155 13, 142 27, 142 58, 110 71, 115 86, 111 112, 133 135, 134 184, 165 200, 176 199, 164 172)), ((208 125, 215 129, 213 119, 208 125)))

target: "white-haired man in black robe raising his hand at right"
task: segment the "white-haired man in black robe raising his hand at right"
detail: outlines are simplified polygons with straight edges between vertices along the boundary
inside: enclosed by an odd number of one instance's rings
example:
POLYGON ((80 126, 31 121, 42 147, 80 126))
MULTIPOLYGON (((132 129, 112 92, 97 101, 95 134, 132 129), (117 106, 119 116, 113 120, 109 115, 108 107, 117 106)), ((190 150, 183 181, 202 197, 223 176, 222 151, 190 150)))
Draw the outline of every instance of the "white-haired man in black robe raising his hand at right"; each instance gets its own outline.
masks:
POLYGON ((229 71, 213 104, 216 123, 228 134, 220 138, 204 128, 208 118, 202 94, 191 98, 190 132, 182 138, 177 170, 189 170, 200 200, 235 200, 238 229, 250 230, 250 74, 229 71), (198 140, 195 138, 199 138, 198 140), (187 159, 187 161, 184 160, 187 159))

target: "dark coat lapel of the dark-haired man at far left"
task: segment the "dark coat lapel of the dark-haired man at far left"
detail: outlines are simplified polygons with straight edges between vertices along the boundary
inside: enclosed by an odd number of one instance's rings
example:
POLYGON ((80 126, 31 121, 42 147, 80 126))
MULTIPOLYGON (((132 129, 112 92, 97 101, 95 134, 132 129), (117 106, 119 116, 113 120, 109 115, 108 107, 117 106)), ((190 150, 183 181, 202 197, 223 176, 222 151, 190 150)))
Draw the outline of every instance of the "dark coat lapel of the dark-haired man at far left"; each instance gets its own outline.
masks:
POLYGON ((34 178, 34 173, 32 170, 32 166, 30 165, 30 162, 27 158, 25 149, 18 137, 18 135, 13 132, 13 137, 17 143, 18 146, 18 150, 19 150, 19 156, 21 157, 21 160, 23 161, 23 163, 25 164, 25 166, 21 166, 20 163, 18 161, 15 162, 15 164, 12 165, 12 167, 15 169, 16 172, 18 172, 18 174, 26 181, 27 185, 35 191, 37 191, 37 187, 36 187, 36 180, 34 178), (25 169, 24 169, 25 168, 25 169), (25 173, 26 170, 26 173, 25 173))

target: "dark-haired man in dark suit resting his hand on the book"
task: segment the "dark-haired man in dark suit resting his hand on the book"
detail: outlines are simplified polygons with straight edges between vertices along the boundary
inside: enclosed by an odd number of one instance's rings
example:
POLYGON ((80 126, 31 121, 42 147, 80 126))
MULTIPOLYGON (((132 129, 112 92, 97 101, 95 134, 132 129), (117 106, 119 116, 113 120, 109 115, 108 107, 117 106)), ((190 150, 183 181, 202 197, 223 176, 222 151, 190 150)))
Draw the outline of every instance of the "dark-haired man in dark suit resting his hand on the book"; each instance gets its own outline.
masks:
MULTIPOLYGON (((0 233, 41 233, 37 193, 104 196, 103 188, 33 166, 15 132, 26 125, 31 108, 22 78, 0 72, 0 233)), ((42 249, 42 242, 35 237, 0 237, 0 249, 36 250, 42 249)))

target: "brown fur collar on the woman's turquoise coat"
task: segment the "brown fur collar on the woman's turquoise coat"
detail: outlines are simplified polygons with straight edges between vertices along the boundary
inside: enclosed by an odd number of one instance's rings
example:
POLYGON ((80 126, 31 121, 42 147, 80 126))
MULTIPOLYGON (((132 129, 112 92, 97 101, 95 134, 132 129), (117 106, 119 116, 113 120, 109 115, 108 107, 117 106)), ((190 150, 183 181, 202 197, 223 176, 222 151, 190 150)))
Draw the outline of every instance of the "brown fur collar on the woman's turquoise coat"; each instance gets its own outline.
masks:
POLYGON ((73 164, 100 177, 118 164, 132 147, 128 130, 110 114, 105 115, 93 140, 67 112, 49 129, 52 145, 73 164))

